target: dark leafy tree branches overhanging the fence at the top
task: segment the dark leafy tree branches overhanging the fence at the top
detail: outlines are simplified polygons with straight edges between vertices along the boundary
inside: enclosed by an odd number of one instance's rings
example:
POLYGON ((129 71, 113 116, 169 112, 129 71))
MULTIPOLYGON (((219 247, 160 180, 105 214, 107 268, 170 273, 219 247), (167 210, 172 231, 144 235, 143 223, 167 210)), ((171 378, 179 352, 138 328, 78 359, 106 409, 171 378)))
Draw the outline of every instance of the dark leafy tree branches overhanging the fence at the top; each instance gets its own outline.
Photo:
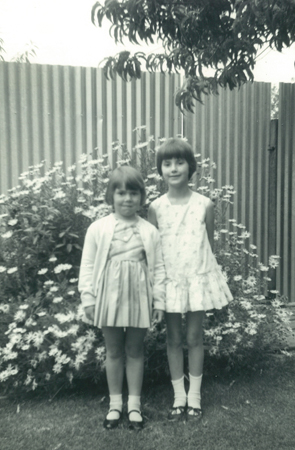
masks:
POLYGON ((92 8, 92 21, 111 22, 116 43, 160 41, 164 52, 104 60, 105 75, 140 78, 142 70, 185 73, 176 96, 181 109, 194 99, 253 81, 257 50, 264 44, 281 51, 295 41, 295 0, 106 0, 92 8), (207 69, 211 69, 208 71, 207 69), (213 69, 213 70, 212 70, 213 69))

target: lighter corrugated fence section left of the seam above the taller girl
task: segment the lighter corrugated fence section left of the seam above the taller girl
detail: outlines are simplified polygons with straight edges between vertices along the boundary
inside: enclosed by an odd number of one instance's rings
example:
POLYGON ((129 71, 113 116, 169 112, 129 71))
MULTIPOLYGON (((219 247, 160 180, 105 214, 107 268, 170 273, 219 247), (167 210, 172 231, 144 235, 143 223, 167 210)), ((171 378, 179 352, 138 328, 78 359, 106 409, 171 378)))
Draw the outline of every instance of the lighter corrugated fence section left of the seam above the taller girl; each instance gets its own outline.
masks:
POLYGON ((182 133, 179 85, 177 75, 126 83, 101 69, 0 62, 0 192, 44 159, 67 167, 98 148, 112 161, 112 142, 131 150, 138 126, 156 138, 182 133))

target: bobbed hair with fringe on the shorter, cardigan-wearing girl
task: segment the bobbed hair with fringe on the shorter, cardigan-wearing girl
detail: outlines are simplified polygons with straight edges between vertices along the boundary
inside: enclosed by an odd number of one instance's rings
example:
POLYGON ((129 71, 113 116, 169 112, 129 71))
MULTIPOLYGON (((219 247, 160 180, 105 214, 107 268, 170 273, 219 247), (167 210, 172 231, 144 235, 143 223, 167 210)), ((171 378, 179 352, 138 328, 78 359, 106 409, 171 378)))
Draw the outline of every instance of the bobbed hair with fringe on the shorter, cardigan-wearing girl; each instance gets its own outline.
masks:
POLYGON ((141 206, 144 205, 146 200, 144 181, 140 172, 134 167, 120 166, 111 173, 105 196, 108 205, 114 204, 115 190, 122 188, 139 191, 141 195, 140 204, 141 206))

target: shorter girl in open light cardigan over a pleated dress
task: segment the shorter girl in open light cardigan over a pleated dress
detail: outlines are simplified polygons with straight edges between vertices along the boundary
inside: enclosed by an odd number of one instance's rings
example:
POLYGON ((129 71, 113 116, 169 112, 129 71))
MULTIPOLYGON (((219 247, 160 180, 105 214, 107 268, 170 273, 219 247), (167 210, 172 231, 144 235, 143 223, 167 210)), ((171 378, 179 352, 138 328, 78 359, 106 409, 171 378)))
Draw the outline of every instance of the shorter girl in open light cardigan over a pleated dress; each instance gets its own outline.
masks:
POLYGON ((159 232, 136 213, 145 198, 137 170, 129 166, 114 170, 106 193, 114 213, 89 226, 82 253, 79 291, 86 321, 102 329, 106 345, 110 407, 103 425, 107 429, 121 421, 125 358, 128 426, 143 426, 143 341, 152 318, 161 321, 165 310, 159 232))

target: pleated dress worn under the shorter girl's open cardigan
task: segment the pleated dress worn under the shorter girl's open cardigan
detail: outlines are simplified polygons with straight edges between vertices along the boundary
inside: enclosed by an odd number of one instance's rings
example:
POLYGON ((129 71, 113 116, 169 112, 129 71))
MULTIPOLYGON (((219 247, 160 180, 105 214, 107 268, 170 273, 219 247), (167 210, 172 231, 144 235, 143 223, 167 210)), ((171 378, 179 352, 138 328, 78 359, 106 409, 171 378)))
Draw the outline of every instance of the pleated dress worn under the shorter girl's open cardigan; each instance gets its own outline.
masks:
POLYGON ((137 222, 116 219, 108 260, 98 286, 94 325, 148 328, 152 316, 145 250, 137 222))

